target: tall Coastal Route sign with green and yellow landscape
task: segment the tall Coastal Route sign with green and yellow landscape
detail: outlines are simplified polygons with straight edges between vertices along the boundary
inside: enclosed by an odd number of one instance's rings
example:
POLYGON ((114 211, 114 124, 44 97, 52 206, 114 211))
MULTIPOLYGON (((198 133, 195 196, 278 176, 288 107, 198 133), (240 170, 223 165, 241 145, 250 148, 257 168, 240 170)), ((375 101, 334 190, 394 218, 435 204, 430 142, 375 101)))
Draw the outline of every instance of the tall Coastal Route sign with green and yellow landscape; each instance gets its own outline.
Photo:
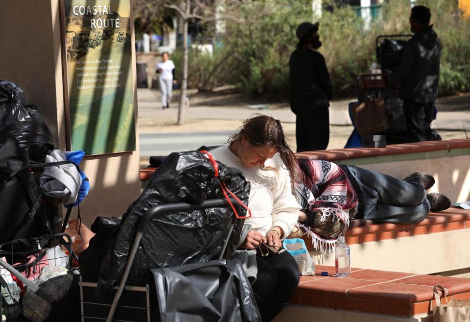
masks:
POLYGON ((63 1, 71 150, 135 150, 129 0, 63 1))

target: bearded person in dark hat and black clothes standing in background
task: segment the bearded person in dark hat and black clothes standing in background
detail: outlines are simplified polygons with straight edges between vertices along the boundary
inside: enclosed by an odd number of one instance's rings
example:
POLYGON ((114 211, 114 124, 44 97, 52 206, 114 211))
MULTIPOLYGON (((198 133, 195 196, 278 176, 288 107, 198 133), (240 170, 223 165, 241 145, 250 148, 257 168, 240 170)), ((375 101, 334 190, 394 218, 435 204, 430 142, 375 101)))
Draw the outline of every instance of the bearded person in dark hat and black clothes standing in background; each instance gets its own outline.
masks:
POLYGON ((329 141, 331 82, 322 46, 319 23, 302 23, 296 29, 297 49, 289 59, 290 108, 296 115, 297 152, 324 150, 329 141))

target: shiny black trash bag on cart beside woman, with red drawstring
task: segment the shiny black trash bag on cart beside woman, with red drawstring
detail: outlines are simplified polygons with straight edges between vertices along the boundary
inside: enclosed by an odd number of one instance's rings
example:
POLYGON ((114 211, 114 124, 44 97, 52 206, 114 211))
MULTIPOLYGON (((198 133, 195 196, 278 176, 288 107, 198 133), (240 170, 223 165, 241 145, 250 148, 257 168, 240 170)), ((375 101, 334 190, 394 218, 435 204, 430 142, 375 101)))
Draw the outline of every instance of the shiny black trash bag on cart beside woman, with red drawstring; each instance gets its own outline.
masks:
MULTIPOLYGON (((118 284, 137 233, 137 222, 158 204, 186 202, 199 204, 206 199, 224 198, 220 181, 242 202, 248 204, 250 183, 243 173, 217 162, 214 175, 211 162, 200 152, 173 152, 153 174, 141 196, 122 217, 112 249, 101 264, 97 295, 111 292, 118 284)), ((246 210, 242 209, 244 216, 246 210)), ((217 259, 233 218, 228 207, 180 211, 154 217, 145 230, 128 277, 140 284, 151 268, 202 263, 217 259)), ((237 220, 228 244, 230 255, 240 239, 244 220, 237 220)))

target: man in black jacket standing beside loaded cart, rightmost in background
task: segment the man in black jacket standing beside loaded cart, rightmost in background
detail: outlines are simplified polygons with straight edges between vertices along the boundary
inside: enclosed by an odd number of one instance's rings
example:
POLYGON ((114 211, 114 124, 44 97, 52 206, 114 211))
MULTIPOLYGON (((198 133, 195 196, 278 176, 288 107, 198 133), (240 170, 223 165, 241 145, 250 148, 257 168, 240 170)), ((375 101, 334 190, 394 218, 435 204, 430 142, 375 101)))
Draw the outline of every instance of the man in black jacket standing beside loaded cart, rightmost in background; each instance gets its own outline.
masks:
POLYGON ((431 131, 435 119, 441 42, 429 25, 431 12, 422 5, 411 9, 410 26, 414 36, 408 40, 400 71, 393 79, 401 86, 401 97, 410 142, 440 140, 431 131))

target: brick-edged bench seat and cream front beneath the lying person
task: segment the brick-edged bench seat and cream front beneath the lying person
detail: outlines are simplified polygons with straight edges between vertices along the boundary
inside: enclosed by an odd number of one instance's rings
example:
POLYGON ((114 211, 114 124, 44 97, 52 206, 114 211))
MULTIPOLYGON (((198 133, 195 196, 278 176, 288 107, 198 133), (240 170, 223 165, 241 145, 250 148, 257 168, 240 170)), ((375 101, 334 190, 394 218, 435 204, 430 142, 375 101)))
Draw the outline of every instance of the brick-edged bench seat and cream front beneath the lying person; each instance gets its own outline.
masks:
MULTIPOLYGON (((421 223, 412 225, 353 220, 346 242, 355 267, 470 276, 469 229, 470 210, 449 208, 429 213, 421 223)), ((317 263, 334 265, 334 256, 321 256, 311 239, 305 238, 305 244, 317 263)))

